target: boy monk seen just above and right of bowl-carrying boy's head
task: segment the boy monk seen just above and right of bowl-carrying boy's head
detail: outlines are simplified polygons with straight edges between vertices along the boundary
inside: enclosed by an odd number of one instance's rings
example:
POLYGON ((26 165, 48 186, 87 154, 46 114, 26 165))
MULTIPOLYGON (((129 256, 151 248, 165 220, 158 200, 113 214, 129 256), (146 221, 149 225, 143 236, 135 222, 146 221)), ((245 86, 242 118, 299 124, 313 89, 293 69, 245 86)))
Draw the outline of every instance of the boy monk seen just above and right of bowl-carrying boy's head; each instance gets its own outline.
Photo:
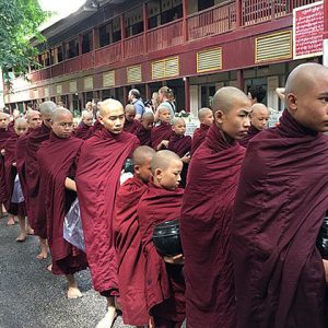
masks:
POLYGON ((175 152, 183 161, 180 187, 186 187, 188 164, 190 162, 191 137, 185 136, 186 122, 181 117, 174 118, 172 121, 173 134, 168 140, 167 149, 175 152))

